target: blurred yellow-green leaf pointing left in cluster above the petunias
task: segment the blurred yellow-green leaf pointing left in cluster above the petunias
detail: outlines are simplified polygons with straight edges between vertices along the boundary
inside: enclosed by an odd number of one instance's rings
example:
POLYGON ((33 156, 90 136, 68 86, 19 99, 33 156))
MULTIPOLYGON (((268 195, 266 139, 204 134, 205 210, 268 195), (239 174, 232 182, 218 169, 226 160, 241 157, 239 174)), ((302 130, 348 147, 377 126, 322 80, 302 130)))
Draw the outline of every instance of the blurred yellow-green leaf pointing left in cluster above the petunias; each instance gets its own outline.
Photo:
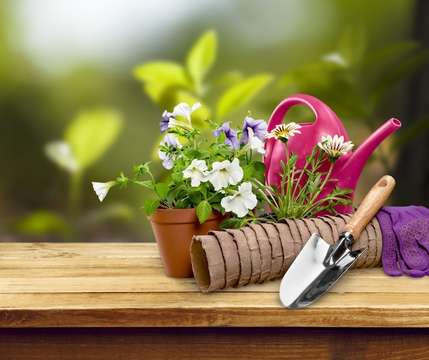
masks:
POLYGON ((137 66, 134 69, 134 77, 146 84, 156 84, 160 88, 191 87, 184 66, 175 62, 157 61, 137 66))

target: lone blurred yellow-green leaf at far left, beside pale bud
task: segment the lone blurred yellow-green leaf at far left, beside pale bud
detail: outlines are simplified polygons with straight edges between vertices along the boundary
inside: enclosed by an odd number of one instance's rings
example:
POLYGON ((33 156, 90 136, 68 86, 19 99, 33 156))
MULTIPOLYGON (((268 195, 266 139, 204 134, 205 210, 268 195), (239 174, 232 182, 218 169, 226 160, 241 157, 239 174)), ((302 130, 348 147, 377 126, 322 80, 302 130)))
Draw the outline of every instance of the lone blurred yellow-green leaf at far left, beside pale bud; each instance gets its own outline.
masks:
POLYGON ((121 132, 123 119, 119 112, 97 109, 77 115, 66 129, 64 138, 82 168, 97 162, 121 132))

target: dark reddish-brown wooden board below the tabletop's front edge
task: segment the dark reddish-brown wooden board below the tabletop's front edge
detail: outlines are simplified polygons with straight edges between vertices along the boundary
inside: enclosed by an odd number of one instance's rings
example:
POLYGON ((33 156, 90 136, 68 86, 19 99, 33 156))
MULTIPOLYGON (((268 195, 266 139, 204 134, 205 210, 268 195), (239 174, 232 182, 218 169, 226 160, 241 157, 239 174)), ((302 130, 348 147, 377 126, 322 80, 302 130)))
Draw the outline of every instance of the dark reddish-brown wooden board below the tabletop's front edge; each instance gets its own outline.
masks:
POLYGON ((428 329, 0 329, 3 360, 423 359, 428 353, 428 329))

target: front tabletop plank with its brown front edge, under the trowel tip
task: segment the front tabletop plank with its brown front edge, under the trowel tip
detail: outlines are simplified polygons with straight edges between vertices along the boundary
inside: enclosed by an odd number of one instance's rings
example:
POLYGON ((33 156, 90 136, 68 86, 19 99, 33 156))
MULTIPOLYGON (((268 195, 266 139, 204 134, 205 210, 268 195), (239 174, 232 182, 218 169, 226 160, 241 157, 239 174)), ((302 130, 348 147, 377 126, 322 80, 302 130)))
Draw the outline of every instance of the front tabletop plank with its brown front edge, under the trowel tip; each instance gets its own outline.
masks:
POLYGON ((310 326, 429 327, 427 296, 408 294, 387 304, 382 294, 326 294, 309 307, 289 310, 277 296, 203 294, 4 294, 1 327, 310 326), (223 301, 222 301, 223 300, 223 301))

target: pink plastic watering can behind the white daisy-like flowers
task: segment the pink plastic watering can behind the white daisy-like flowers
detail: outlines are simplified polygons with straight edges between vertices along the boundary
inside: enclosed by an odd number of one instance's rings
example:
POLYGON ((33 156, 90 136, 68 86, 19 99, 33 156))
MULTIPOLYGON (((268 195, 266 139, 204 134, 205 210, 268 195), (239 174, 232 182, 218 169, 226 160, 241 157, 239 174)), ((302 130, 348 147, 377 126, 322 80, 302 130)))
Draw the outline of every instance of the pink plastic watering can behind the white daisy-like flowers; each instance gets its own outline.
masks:
MULTIPOLYGON (((339 120, 338 116, 319 99, 306 94, 296 94, 284 99, 274 110, 268 123, 268 131, 274 129, 275 125, 283 123, 284 116, 288 110, 295 105, 306 105, 315 113, 316 120, 314 123, 299 124, 302 126, 299 131, 302 135, 296 134, 291 136, 288 141, 289 151, 299 155, 296 167, 297 169, 304 168, 306 163, 306 155, 310 155, 314 146, 321 142, 322 136, 344 136, 344 141, 349 141, 347 133, 339 120)), ((360 174, 365 166, 369 156, 377 148, 377 146, 389 136, 393 131, 399 129, 401 123, 395 118, 391 118, 374 133, 367 138, 357 149, 349 151, 342 155, 334 164, 334 170, 330 179, 338 179, 338 181, 328 182, 325 189, 322 190, 319 198, 324 198, 326 194, 330 194, 335 185, 342 189, 351 189, 353 193, 351 200, 354 199, 354 192, 360 174)), ((280 160, 286 163, 286 149, 280 140, 274 138, 268 139, 265 142, 265 150, 267 157, 264 157, 265 179, 267 185, 280 185, 281 176, 278 172, 282 172, 280 160)), ((330 162, 325 162, 320 168, 320 172, 327 172, 330 167, 330 162)), ((304 181, 306 179, 303 179, 304 181)), ((339 214, 350 214, 353 209, 350 206, 339 205, 336 207, 339 214)), ((322 215, 322 214, 321 214, 322 215)))

